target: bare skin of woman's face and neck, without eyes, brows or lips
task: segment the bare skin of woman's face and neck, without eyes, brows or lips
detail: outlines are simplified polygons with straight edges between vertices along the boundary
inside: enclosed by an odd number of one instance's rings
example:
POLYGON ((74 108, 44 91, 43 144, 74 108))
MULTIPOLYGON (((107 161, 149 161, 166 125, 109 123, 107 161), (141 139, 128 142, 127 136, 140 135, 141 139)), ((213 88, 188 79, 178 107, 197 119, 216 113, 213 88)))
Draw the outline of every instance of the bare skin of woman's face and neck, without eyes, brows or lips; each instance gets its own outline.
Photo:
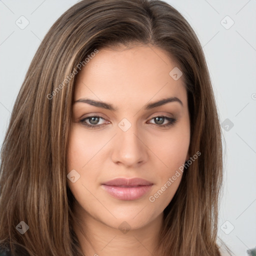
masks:
POLYGON ((74 214, 80 219, 74 230, 86 255, 121 252, 123 256, 146 256, 156 247, 163 210, 176 192, 182 172, 153 202, 149 196, 189 159, 187 95, 183 76, 174 80, 169 75, 175 66, 160 48, 136 44, 100 49, 77 74, 74 101, 86 97, 118 108, 112 111, 84 102, 72 107, 67 169, 75 169, 80 177, 74 183, 68 179, 68 185, 76 199, 74 214), (183 106, 173 101, 143 109, 145 104, 171 96, 179 98, 183 106), (102 125, 89 129, 79 122, 88 115, 103 119, 84 122, 102 125), (176 118, 176 122, 163 128, 162 123, 169 121, 157 122, 154 117, 159 115, 176 118), (126 131, 118 126, 123 118, 131 124, 126 131), (115 177, 140 177, 153 186, 139 199, 120 200, 101 186, 115 177), (118 228, 123 221, 128 223, 124 224, 126 233, 118 228))

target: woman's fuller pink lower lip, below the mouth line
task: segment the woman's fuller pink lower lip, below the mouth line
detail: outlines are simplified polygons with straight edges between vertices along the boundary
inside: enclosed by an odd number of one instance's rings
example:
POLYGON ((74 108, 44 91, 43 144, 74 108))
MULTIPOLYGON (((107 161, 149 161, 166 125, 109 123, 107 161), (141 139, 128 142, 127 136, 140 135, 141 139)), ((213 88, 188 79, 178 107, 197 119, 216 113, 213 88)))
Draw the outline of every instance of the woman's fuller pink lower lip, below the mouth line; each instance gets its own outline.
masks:
POLYGON ((114 198, 120 200, 135 200, 147 193, 152 185, 122 187, 103 184, 102 187, 114 198))

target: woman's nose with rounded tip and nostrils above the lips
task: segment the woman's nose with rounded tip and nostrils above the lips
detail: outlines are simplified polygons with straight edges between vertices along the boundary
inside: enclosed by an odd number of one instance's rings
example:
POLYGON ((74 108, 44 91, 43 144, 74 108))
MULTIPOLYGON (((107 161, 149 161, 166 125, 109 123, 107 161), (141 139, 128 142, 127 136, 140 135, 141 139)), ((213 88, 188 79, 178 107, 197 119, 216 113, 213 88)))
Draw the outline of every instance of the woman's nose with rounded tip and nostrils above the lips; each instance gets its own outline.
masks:
POLYGON ((112 161, 125 167, 137 167, 146 162, 148 152, 144 140, 136 125, 131 125, 126 131, 119 129, 114 136, 112 161))

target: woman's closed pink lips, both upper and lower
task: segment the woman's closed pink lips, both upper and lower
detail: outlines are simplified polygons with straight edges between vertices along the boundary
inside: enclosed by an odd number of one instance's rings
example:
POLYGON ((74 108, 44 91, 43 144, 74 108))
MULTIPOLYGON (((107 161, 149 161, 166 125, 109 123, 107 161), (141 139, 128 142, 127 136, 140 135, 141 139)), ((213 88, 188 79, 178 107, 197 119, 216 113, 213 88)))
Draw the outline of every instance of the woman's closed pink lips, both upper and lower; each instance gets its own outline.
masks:
POLYGON ((142 178, 115 178, 101 185, 114 198, 135 200, 147 193, 153 183, 142 178))

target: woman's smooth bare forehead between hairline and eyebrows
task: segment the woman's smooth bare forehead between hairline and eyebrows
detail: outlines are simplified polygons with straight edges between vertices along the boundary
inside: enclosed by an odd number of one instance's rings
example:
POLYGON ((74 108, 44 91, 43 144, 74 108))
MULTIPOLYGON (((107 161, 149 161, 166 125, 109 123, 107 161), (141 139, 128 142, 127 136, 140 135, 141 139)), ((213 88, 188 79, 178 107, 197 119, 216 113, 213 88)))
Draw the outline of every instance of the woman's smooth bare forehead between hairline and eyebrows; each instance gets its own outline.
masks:
POLYGON ((103 48, 77 74, 74 100, 86 96, 122 105, 176 96, 186 103, 183 77, 174 80, 173 68, 176 62, 152 45, 103 48))

